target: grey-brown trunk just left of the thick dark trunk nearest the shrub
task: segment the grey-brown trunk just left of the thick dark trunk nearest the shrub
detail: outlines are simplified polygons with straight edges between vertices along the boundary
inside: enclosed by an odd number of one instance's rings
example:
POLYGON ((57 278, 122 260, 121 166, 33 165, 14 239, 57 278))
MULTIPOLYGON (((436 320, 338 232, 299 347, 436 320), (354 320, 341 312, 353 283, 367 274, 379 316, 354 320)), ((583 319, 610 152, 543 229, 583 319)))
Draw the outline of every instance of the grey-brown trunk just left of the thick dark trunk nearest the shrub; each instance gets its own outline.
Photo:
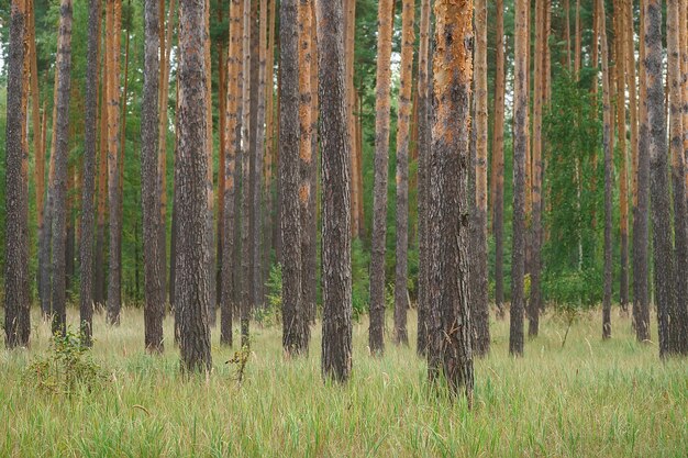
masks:
POLYGON ((163 350, 163 317, 165 290, 159 254, 159 190, 158 190, 158 81, 159 81, 159 15, 158 2, 146 0, 144 8, 144 82, 141 105, 141 200, 143 203, 143 253, 145 282, 145 346, 148 351, 163 350))

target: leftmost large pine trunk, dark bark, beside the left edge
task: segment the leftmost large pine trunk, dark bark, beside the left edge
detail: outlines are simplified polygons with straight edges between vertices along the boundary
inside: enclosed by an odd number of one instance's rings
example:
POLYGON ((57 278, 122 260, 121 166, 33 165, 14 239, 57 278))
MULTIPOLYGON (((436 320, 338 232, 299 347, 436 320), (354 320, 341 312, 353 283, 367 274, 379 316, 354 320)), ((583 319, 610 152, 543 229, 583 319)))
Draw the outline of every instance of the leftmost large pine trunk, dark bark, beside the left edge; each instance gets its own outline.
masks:
MULTIPOLYGON (((5 126, 4 332, 8 348, 29 345, 29 149, 25 142, 29 74, 26 2, 12 0, 5 126)), ((64 286, 64 284, 63 284, 64 286)))

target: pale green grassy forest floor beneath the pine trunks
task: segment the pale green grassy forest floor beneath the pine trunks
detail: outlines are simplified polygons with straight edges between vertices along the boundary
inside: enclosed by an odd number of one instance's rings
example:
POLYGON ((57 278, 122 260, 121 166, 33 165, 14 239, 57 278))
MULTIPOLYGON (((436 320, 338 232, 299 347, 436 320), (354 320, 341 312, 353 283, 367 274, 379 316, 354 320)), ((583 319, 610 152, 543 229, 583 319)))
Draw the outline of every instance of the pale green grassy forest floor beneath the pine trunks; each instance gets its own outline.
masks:
MULTIPOLYGON (((476 361, 471 412, 428 389, 414 346, 388 344, 382 358, 370 357, 365 320, 354 325, 347 386, 321 380, 319 326, 310 357, 286 360, 279 326, 255 323, 240 386, 236 365, 225 364, 234 351, 219 345, 219 332, 213 373, 185 379, 171 319, 165 355, 148 356, 143 313, 132 309, 116 328, 96 316, 92 358, 107 381, 58 394, 37 389, 26 369, 49 342, 49 326, 33 319, 30 350, 0 350, 3 457, 688 455, 688 362, 662 362, 656 344, 637 344, 618 313, 611 340, 601 340, 600 314, 590 312, 564 348, 567 323, 547 314, 518 359, 508 356, 508 321, 492 316, 492 349, 476 361)), ((414 343, 415 314, 409 319, 414 343)))

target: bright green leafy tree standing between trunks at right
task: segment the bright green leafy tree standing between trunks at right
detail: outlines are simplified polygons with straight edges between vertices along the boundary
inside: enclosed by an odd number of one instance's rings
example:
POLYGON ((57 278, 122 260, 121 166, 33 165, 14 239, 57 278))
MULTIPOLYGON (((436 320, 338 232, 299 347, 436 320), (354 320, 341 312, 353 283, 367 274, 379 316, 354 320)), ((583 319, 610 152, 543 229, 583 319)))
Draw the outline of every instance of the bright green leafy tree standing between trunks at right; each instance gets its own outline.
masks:
POLYGON ((604 181, 597 114, 589 87, 559 71, 544 119, 550 159, 544 183, 543 292, 553 302, 591 305, 602 291, 598 247, 604 181))

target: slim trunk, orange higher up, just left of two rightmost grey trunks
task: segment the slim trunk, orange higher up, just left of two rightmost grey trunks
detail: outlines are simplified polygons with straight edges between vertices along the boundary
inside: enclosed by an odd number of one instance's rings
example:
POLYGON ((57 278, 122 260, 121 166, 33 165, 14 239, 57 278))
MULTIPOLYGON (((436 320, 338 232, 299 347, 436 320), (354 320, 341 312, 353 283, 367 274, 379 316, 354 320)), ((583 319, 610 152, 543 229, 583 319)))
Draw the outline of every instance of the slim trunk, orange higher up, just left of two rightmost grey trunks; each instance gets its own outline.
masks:
POLYGON ((637 342, 650 340, 650 119, 645 71, 645 8, 641 5, 640 32, 640 130, 637 146, 636 204, 633 208, 633 322, 637 342))

